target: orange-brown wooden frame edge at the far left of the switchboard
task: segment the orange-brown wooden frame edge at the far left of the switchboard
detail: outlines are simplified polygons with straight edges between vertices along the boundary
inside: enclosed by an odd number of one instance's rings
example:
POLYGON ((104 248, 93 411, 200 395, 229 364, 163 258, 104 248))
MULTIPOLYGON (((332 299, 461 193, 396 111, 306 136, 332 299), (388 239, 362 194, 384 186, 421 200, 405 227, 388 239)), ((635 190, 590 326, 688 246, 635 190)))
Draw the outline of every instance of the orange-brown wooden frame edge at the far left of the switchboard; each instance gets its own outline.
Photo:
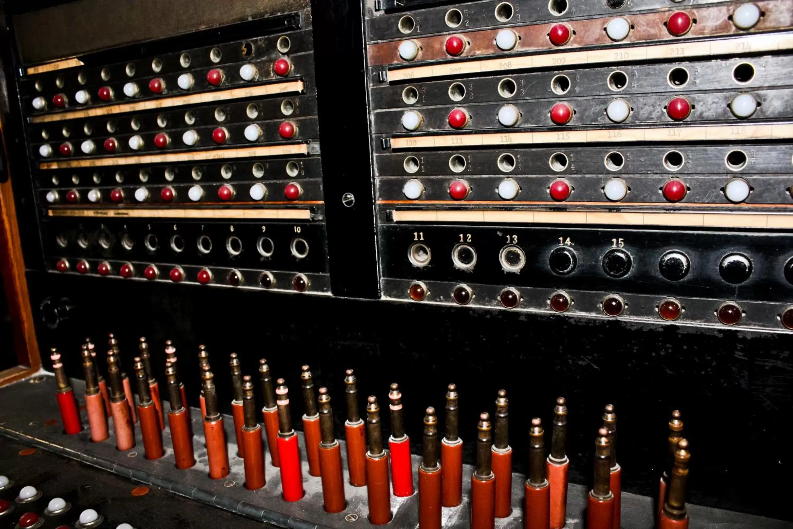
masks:
MULTIPOLYGON (((0 123, 0 136, 5 138, 2 123, 0 123)), ((3 147, 5 148, 5 140, 3 147)), ((41 367, 36 329, 33 325, 33 311, 30 308, 28 284, 25 280, 25 261, 22 258, 17 209, 13 202, 10 179, 0 183, 0 274, 6 290, 6 302, 13 327, 13 347, 17 362, 20 364, 17 368, 0 372, 0 385, 3 385, 24 378, 41 367)))

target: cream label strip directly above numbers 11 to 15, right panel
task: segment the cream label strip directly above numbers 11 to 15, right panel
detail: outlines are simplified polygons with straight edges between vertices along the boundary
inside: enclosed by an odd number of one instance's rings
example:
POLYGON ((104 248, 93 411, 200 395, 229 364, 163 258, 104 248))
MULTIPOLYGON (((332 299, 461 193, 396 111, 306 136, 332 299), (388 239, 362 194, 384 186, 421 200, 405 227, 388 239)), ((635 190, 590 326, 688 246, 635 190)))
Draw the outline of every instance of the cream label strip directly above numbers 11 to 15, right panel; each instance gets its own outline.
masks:
POLYGON ((487 211, 416 209, 392 212, 394 222, 493 224, 607 224, 699 228, 793 228, 793 215, 764 213, 614 213, 585 211, 487 211))

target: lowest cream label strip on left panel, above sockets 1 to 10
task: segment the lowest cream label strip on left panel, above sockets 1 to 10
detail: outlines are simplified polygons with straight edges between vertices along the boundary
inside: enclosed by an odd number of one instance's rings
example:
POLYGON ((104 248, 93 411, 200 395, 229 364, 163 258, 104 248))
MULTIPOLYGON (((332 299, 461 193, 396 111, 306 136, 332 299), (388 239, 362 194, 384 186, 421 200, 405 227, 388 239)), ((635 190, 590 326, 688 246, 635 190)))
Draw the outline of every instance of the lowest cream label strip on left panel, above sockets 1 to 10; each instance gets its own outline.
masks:
MULTIPOLYGON (((301 204, 320 204, 320 201, 301 204)), ((48 209, 48 217, 144 217, 184 219, 301 219, 310 220, 308 209, 48 209)))

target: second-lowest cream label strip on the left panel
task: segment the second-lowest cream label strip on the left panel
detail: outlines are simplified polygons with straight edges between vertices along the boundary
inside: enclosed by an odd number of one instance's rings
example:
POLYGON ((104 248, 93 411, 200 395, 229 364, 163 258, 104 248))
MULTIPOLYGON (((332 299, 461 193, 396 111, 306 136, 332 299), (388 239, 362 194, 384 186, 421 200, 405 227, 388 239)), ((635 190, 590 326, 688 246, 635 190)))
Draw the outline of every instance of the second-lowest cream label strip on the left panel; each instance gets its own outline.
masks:
POLYGON ((117 165, 134 165, 138 163, 176 163, 198 160, 259 158, 263 156, 307 155, 307 144, 267 145, 266 147, 248 147, 239 149, 222 149, 220 151, 174 152, 164 155, 121 156, 116 158, 78 159, 63 162, 41 163, 41 169, 68 169, 71 167, 105 167, 117 165))

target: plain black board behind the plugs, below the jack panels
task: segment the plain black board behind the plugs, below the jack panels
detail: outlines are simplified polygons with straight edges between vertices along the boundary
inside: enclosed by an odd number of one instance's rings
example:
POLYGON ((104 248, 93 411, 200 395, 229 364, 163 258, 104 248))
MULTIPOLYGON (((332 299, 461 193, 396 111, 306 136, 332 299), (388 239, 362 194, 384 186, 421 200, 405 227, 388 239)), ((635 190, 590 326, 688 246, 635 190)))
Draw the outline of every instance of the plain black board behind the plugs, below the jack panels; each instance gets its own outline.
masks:
MULTIPOLYGON (((229 412, 228 355, 240 355, 243 374, 254 377, 259 358, 267 358, 274 377, 285 378, 292 390, 293 424, 300 428, 305 363, 316 388, 328 386, 341 436, 344 370, 351 368, 360 406, 377 396, 386 433, 389 384, 400 384, 414 453, 420 453, 424 409, 439 408, 442 421, 446 385, 454 382, 469 463, 477 416, 494 411, 503 388, 521 472, 531 417, 548 427, 547 451, 554 401, 563 396, 571 481, 580 484, 592 480, 596 430, 603 405, 611 403, 619 417, 623 490, 645 495, 656 492, 669 412, 680 409, 691 441, 691 503, 793 519, 783 503, 793 493, 787 335, 40 273, 29 274, 29 285, 36 303, 53 295, 71 301, 67 320, 55 329, 40 324, 38 336, 42 351, 59 347, 73 376, 80 376, 82 340, 92 336, 103 353, 107 333, 114 332, 128 373, 137 340, 147 337, 164 384, 164 343, 173 339, 188 398, 197 405, 197 347, 205 344, 229 412)), ((258 386, 257 399, 262 405, 258 386)))

